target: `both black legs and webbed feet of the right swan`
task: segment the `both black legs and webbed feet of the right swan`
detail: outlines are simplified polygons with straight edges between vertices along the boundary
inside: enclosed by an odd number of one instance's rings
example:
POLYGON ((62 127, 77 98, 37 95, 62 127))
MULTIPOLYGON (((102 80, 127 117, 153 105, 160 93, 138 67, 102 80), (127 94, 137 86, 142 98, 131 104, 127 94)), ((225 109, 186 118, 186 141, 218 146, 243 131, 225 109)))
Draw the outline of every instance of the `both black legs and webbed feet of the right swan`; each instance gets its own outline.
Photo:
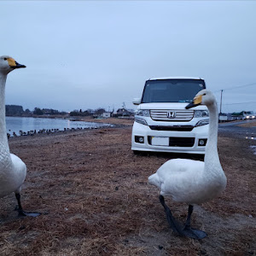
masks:
POLYGON ((179 236, 186 236, 194 239, 202 239, 207 236, 207 233, 201 230, 194 230, 190 227, 190 218, 193 212, 193 206, 189 205, 188 217, 184 228, 177 222, 177 220, 172 216, 172 212, 169 207, 166 206, 165 199, 162 195, 159 196, 161 205, 165 208, 166 218, 171 227, 171 229, 179 236))

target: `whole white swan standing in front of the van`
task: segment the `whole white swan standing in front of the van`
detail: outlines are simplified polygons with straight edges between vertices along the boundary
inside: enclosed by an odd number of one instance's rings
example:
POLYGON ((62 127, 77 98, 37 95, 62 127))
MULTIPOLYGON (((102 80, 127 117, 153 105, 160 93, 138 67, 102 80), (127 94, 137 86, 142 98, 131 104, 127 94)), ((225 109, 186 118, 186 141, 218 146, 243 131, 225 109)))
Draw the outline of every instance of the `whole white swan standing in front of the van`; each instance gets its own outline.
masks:
POLYGON ((226 187, 226 177, 218 159, 218 108, 215 96, 209 90, 197 93, 186 108, 206 105, 209 110, 209 137, 205 161, 172 159, 160 166, 156 173, 148 177, 148 182, 160 189, 160 202, 165 208, 167 220, 177 234, 201 239, 207 234, 190 228, 193 205, 218 196, 226 187), (166 206, 164 195, 172 196, 173 201, 189 204, 188 217, 184 228, 172 217, 166 206))

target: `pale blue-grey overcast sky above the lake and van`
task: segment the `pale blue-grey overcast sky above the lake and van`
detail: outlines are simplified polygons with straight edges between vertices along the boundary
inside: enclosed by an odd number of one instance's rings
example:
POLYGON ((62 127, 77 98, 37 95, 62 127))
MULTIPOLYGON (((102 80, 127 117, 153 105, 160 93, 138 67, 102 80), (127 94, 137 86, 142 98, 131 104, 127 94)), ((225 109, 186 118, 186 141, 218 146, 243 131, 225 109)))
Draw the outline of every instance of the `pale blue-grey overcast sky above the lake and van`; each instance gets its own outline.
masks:
POLYGON ((224 90, 223 112, 256 111, 254 1, 1 1, 0 9, 0 55, 26 65, 9 74, 6 104, 133 108, 146 79, 193 76, 218 102, 224 90))

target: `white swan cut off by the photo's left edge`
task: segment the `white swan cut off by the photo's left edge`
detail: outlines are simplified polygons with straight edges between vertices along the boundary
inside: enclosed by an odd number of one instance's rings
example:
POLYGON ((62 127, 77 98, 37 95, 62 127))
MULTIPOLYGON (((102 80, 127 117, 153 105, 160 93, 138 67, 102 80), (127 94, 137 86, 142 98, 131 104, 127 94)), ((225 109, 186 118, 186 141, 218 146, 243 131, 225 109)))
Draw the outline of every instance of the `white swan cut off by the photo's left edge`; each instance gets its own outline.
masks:
POLYGON ((38 216, 40 213, 24 212, 20 204, 20 189, 26 178, 26 165, 15 154, 9 153, 9 144, 5 125, 5 84, 7 75, 20 65, 13 58, 0 57, 0 198, 15 192, 20 215, 38 216))

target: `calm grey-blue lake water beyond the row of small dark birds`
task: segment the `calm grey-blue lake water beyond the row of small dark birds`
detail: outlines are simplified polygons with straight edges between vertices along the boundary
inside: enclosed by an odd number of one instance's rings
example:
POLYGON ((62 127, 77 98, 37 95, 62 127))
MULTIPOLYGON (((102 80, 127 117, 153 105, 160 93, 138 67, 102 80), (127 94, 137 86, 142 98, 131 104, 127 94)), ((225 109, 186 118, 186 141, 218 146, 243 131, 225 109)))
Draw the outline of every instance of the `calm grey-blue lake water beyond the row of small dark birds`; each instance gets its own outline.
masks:
POLYGON ((109 127, 113 125, 93 123, 93 122, 82 122, 82 121, 71 121, 69 119, 44 119, 44 118, 26 118, 26 117, 6 117, 6 130, 11 136, 15 132, 18 136, 20 131, 39 131, 39 130, 51 130, 59 129, 64 131, 64 128, 76 129, 76 128, 99 128, 109 127))

